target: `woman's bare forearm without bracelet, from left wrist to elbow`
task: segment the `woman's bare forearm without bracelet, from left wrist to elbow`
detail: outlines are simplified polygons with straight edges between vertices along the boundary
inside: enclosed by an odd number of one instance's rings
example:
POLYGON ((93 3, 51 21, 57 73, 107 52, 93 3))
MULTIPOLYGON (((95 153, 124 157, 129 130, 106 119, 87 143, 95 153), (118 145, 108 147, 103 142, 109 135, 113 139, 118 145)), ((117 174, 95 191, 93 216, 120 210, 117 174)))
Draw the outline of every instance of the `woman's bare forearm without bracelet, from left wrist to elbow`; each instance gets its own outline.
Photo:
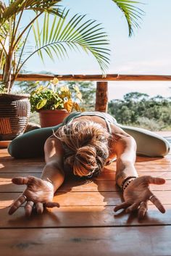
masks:
POLYGON ((50 181, 55 192, 64 182, 64 171, 59 168, 56 162, 48 162, 43 168, 41 179, 50 181))

